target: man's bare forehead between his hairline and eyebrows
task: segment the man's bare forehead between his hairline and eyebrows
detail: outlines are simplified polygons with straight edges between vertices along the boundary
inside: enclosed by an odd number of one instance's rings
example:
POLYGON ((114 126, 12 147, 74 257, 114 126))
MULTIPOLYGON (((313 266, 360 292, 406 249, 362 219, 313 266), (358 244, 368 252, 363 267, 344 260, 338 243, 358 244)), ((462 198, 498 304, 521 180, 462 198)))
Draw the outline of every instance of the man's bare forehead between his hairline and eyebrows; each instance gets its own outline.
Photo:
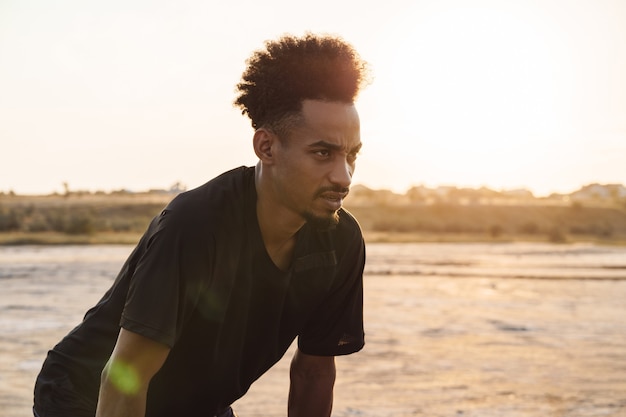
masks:
POLYGON ((301 129, 297 130, 305 141, 325 140, 346 147, 361 141, 359 114, 351 103, 304 100, 301 129))

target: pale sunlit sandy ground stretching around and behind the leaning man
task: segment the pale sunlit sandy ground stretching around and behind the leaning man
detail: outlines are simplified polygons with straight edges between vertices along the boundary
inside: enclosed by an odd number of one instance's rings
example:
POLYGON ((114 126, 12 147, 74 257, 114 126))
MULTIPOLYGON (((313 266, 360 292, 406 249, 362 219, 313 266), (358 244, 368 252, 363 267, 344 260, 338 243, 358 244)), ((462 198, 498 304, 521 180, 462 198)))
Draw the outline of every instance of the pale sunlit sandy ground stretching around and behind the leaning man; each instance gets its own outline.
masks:
MULTIPOLYGON (((47 349, 113 264, 0 265, 0 416, 31 415, 47 349)), ((367 345, 337 359, 333 416, 626 416, 626 280, 370 273, 365 285, 367 345)), ((241 417, 286 415, 292 352, 235 404, 241 417)))

